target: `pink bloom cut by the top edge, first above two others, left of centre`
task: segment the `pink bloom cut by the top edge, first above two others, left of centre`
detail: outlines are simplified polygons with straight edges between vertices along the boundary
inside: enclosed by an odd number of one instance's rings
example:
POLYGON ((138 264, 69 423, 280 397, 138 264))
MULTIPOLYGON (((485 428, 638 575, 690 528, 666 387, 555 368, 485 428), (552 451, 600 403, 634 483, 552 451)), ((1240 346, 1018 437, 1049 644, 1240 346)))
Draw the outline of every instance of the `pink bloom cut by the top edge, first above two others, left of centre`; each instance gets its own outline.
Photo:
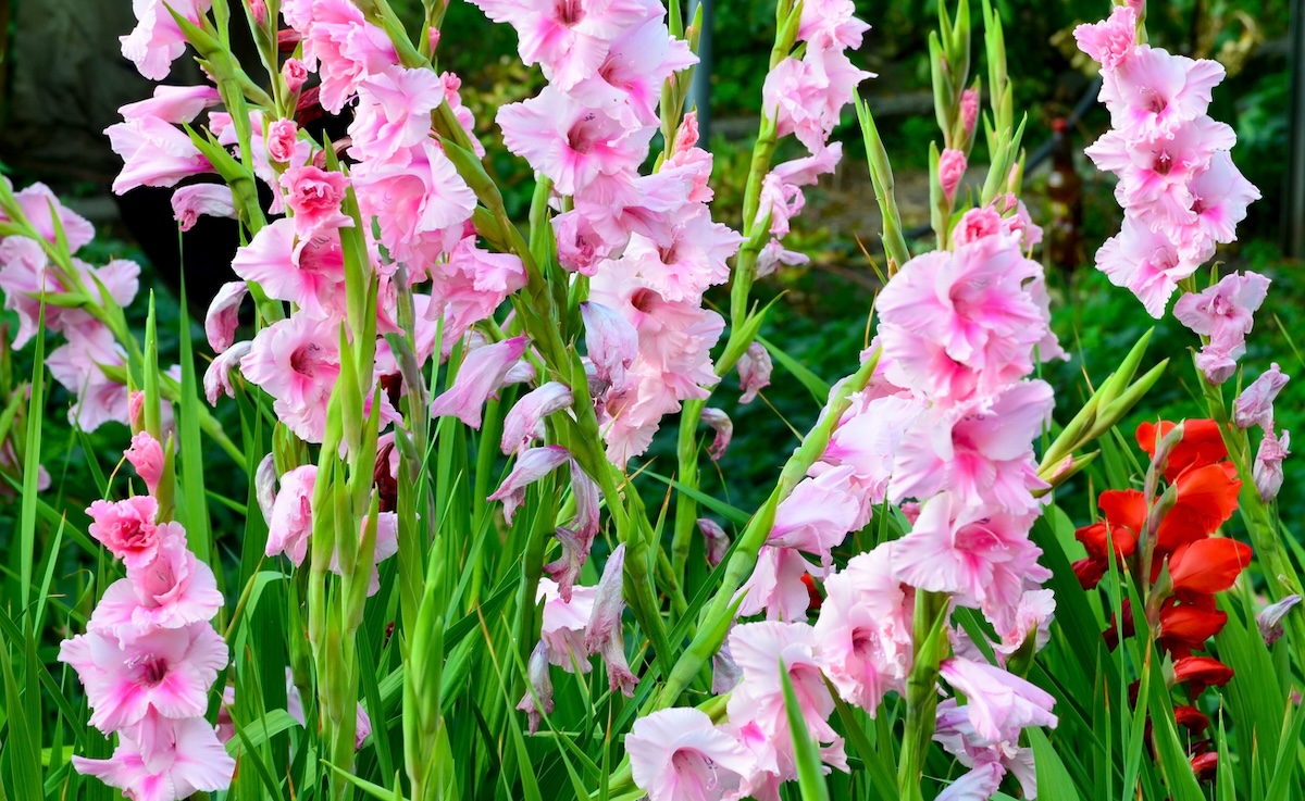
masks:
POLYGON ((331 113, 341 112, 360 81, 398 64, 389 34, 350 0, 313 0, 307 22, 304 61, 317 64, 321 104, 331 113))

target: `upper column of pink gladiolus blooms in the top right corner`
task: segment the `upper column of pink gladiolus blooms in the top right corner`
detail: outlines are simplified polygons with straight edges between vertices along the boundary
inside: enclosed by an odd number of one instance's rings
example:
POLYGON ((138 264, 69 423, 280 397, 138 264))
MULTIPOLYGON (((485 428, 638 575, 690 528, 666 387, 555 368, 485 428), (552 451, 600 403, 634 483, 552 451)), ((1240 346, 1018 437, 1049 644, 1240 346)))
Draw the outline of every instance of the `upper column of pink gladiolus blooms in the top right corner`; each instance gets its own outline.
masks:
POLYGON ((1096 265, 1159 320, 1177 283, 1237 239, 1246 206, 1259 198, 1232 163, 1232 128, 1206 113, 1224 69, 1138 44, 1128 5, 1074 37, 1101 64, 1100 99, 1113 124, 1087 155, 1118 176, 1114 197, 1125 211, 1096 265))

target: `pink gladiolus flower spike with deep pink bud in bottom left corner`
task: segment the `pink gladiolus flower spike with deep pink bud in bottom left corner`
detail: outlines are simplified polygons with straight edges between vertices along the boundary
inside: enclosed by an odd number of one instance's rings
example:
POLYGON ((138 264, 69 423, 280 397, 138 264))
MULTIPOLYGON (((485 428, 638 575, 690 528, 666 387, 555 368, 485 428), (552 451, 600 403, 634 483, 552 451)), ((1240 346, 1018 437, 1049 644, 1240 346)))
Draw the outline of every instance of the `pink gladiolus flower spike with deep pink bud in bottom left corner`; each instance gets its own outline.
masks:
MULTIPOLYGON (((147 433, 127 458, 146 485, 163 471, 162 446, 147 433)), ((205 712, 227 643, 209 622, 224 600, 207 565, 187 548, 180 523, 158 519, 151 494, 95 501, 90 535, 127 567, 104 591, 86 634, 60 644, 59 660, 86 689, 90 724, 119 745, 108 759, 73 757, 133 801, 174 801, 223 791, 235 761, 205 712)))

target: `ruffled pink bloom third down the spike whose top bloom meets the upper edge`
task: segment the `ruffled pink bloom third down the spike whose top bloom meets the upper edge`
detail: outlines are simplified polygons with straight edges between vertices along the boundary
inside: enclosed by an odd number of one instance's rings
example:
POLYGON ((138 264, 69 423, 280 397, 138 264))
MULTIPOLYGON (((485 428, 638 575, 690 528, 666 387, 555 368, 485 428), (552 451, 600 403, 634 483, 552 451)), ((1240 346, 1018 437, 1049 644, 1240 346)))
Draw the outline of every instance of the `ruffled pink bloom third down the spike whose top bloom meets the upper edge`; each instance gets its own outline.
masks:
POLYGON ((380 244, 399 262, 429 264, 463 239, 476 196, 433 140, 407 160, 363 162, 350 174, 363 219, 380 223, 380 244))

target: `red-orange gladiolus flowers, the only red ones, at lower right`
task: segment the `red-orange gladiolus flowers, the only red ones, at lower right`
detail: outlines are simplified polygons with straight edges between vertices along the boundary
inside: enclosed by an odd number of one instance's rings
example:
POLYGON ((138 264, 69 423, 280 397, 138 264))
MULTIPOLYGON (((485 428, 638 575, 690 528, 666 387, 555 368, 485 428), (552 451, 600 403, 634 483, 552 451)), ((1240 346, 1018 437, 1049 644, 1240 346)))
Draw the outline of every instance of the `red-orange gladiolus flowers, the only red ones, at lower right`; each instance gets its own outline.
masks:
MULTIPOLYGON (((1138 427, 1138 445, 1156 458, 1159 442, 1174 424, 1143 423, 1138 427)), ((1232 587, 1237 575, 1250 564, 1250 547, 1232 539, 1214 536, 1215 531, 1237 510, 1241 480, 1228 462, 1228 451, 1214 420, 1188 420, 1182 438, 1173 445, 1164 464, 1167 491, 1156 493, 1150 505, 1144 493, 1135 489, 1103 492, 1098 506, 1104 519, 1084 526, 1074 536, 1087 549, 1087 558, 1074 562, 1074 573, 1083 588, 1092 588, 1109 570, 1111 549, 1121 571, 1137 566, 1143 558, 1148 531, 1155 532, 1151 551, 1150 581, 1160 578, 1165 564, 1169 582, 1152 586, 1148 609, 1159 611, 1159 646, 1174 659, 1174 684, 1186 684, 1191 698, 1207 686, 1223 686, 1232 678, 1232 669, 1211 656, 1195 656, 1206 642, 1218 634, 1228 616, 1215 605, 1215 594, 1232 587), (1160 502, 1160 498, 1167 498, 1160 502), (1172 505, 1168 502, 1172 501, 1172 505), (1156 519, 1158 518, 1158 519, 1156 519), (1158 595, 1159 594, 1159 595, 1158 595)), ((1134 635, 1130 604, 1124 601, 1122 625, 1111 621, 1104 637, 1113 650, 1122 637, 1134 635)), ((1178 706, 1174 716, 1193 736, 1205 731, 1208 720, 1195 707, 1178 706)), ((1207 740, 1191 745, 1193 771, 1202 779, 1214 775, 1218 757, 1207 740)))

